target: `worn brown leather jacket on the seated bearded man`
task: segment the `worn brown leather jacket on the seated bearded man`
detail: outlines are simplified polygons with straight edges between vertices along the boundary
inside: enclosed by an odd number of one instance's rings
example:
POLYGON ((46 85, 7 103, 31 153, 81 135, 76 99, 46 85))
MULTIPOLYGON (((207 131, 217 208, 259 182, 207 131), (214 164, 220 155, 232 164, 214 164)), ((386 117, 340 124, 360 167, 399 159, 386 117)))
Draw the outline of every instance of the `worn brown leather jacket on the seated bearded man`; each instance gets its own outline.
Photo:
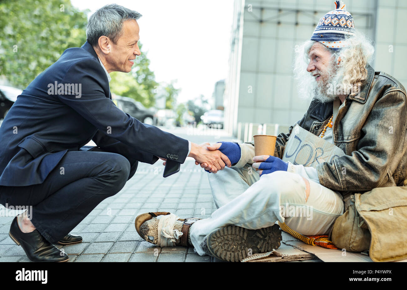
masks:
MULTIPOLYGON (((342 195, 403 186, 406 179, 406 90, 394 77, 366 68, 360 94, 346 97, 333 124, 334 145, 346 155, 316 168, 320 184, 342 195)), ((297 123, 319 136, 332 113, 333 102, 313 100, 297 123)), ((274 156, 282 158, 292 129, 278 135, 274 156)))

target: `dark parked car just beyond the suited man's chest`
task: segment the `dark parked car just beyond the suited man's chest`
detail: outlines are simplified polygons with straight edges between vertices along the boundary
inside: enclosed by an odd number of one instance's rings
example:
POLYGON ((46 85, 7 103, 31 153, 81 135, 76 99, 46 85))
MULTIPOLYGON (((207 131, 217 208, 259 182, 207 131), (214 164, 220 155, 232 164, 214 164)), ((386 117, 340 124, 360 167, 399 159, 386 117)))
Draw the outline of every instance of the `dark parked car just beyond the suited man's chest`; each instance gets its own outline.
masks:
POLYGON ((142 123, 149 125, 155 125, 157 123, 154 118, 155 110, 147 109, 142 105, 142 103, 135 101, 134 99, 112 94, 112 101, 114 101, 120 110, 136 118, 142 123))

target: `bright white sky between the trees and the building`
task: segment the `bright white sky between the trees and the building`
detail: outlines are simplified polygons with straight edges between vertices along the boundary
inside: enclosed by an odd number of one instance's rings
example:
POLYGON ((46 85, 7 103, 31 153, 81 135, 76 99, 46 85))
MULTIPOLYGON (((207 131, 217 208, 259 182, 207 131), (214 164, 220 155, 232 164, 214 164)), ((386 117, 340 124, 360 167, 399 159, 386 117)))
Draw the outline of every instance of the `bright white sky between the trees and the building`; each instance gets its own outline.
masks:
POLYGON ((211 97, 228 76, 233 0, 71 0, 89 16, 109 3, 141 13, 140 42, 156 81, 177 79, 178 101, 211 97))

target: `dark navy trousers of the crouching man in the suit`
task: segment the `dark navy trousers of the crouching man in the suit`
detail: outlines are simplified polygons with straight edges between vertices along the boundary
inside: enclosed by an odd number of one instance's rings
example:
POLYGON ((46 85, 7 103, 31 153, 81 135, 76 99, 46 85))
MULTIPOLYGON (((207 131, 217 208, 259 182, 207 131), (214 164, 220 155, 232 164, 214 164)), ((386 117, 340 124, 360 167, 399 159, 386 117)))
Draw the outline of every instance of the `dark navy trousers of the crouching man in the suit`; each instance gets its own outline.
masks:
POLYGON ((118 193, 137 165, 135 159, 84 146, 68 151, 41 184, 0 186, 0 202, 32 206, 31 222, 49 242, 56 243, 102 200, 118 193))

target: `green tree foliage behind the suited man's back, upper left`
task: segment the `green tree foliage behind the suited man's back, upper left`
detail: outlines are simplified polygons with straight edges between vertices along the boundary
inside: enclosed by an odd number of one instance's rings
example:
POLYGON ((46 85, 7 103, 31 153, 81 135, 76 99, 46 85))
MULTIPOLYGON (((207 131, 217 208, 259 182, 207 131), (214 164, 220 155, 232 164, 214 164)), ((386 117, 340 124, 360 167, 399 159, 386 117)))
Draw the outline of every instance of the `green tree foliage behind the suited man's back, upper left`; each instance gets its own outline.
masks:
POLYGON ((18 88, 86 41, 87 11, 69 0, 0 2, 0 75, 18 88))

